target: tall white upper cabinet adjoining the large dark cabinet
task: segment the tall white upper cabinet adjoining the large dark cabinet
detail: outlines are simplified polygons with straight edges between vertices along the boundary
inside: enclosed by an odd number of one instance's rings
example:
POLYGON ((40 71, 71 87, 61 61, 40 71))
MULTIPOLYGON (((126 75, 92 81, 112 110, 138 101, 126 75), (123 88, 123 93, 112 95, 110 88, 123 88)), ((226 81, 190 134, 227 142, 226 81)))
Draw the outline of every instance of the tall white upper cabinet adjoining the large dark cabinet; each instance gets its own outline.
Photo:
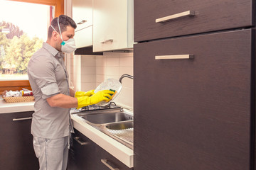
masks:
POLYGON ((93 52, 134 44, 133 0, 93 0, 93 52))

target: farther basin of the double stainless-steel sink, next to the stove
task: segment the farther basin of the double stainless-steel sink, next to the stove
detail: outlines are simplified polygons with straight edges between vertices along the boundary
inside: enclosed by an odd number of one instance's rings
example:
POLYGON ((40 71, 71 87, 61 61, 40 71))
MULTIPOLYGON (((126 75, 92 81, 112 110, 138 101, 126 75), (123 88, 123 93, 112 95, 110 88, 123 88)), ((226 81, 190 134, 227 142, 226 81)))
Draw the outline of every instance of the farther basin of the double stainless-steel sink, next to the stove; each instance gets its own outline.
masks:
POLYGON ((128 115, 122 112, 115 113, 94 113, 94 114, 85 114, 79 115, 80 118, 87 120, 90 123, 94 124, 105 124, 105 123, 115 123, 122 122, 126 120, 133 120, 132 115, 128 115))

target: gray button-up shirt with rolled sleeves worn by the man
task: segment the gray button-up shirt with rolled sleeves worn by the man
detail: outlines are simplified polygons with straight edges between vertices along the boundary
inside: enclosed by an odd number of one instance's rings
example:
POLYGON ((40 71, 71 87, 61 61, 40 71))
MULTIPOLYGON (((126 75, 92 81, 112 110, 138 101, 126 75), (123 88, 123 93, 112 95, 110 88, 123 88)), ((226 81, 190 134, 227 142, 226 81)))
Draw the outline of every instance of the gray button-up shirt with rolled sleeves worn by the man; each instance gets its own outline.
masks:
POLYGON ((28 62, 28 79, 35 97, 31 133, 35 137, 56 139, 70 135, 68 108, 50 107, 46 98, 69 95, 68 72, 63 53, 44 42, 28 62))

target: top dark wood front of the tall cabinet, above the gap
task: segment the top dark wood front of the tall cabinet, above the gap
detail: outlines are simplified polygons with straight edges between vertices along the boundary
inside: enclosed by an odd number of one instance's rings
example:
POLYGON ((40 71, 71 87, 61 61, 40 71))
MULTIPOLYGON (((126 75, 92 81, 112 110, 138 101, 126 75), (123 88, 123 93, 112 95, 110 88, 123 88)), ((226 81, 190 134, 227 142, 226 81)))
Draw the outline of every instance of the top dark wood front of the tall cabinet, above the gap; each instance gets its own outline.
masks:
POLYGON ((134 1, 134 41, 254 26, 251 0, 134 1), (183 16, 191 11, 194 16, 183 16), (164 23, 156 19, 183 16, 164 23))

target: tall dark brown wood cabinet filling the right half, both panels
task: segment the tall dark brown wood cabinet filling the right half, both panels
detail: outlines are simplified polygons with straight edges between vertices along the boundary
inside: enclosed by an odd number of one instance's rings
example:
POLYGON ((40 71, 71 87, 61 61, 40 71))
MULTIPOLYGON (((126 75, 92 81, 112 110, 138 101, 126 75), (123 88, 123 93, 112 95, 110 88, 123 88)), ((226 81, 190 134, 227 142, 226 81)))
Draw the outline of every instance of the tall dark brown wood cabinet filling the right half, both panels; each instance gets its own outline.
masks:
POLYGON ((254 13, 247 0, 134 1, 134 170, 256 169, 254 13))

